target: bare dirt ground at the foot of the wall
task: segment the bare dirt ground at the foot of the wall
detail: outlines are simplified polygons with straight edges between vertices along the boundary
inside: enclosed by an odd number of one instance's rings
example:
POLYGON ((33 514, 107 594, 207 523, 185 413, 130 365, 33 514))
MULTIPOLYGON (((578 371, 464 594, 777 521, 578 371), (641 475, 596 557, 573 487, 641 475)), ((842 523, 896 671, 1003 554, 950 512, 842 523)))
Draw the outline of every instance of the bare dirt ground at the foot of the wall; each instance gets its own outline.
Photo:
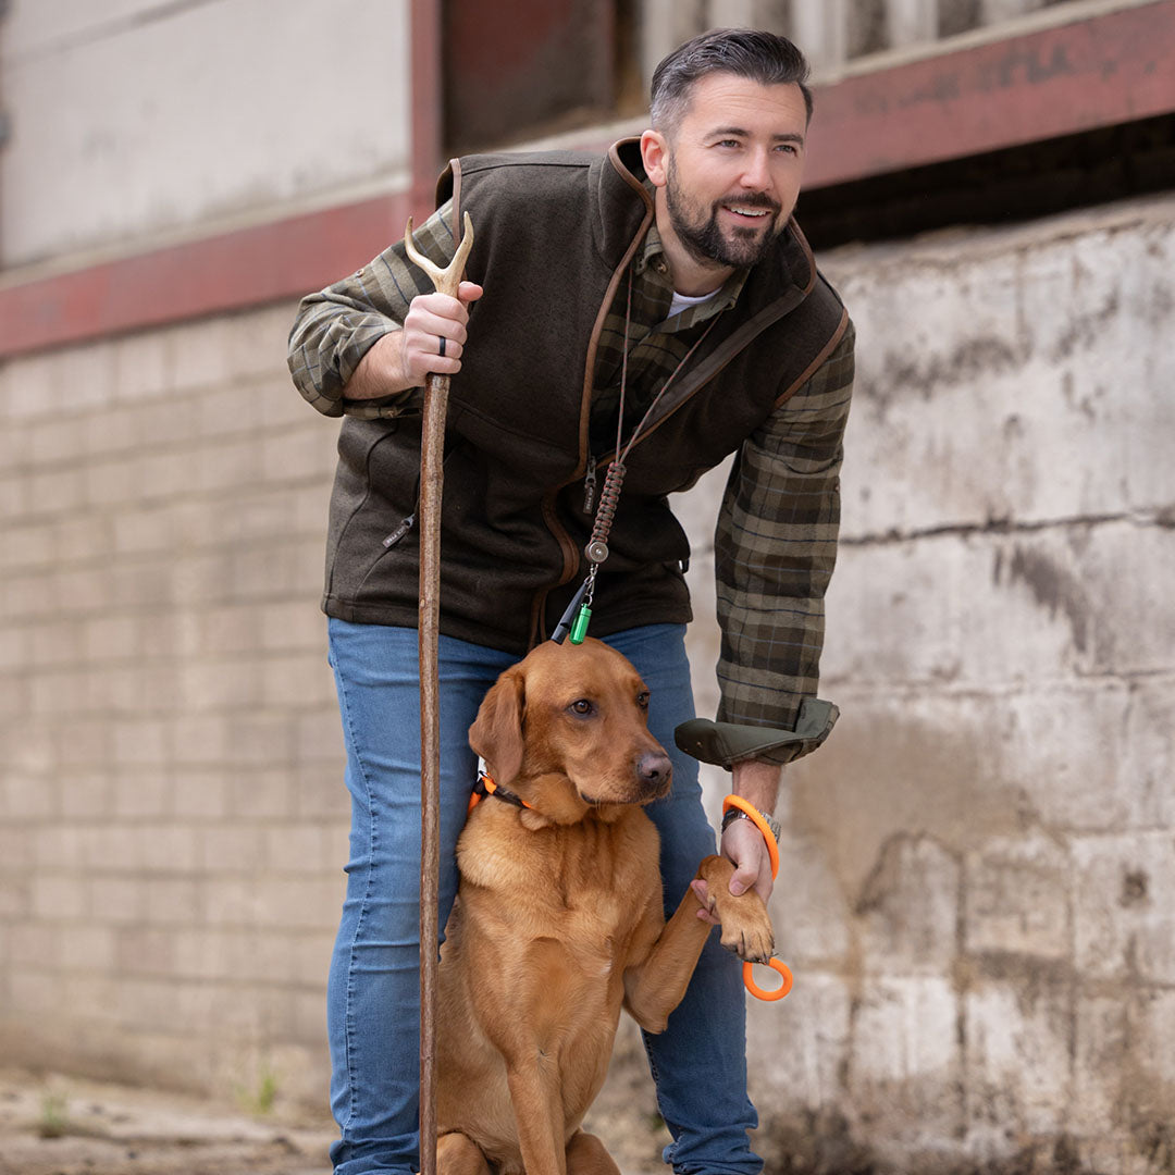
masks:
MULTIPOLYGON (((634 1056, 613 1063, 588 1127, 624 1175, 664 1175, 669 1135, 634 1056)), ((329 1175, 334 1124, 183 1094, 0 1068, 0 1175, 329 1175)))

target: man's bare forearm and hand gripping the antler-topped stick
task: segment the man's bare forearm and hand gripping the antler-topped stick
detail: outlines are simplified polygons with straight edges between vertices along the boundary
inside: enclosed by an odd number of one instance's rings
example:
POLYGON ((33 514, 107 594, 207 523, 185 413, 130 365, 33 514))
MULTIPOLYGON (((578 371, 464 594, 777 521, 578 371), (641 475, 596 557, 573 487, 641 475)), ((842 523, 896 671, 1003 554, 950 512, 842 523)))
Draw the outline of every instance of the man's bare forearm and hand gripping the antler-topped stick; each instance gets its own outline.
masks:
POLYGON ((457 297, 448 294, 414 297, 403 328, 384 335, 368 349, 343 389, 343 396, 377 400, 419 388, 430 372, 456 375, 465 348, 469 306, 483 293, 476 282, 462 282, 457 297), (442 338, 445 341, 443 356, 442 338))

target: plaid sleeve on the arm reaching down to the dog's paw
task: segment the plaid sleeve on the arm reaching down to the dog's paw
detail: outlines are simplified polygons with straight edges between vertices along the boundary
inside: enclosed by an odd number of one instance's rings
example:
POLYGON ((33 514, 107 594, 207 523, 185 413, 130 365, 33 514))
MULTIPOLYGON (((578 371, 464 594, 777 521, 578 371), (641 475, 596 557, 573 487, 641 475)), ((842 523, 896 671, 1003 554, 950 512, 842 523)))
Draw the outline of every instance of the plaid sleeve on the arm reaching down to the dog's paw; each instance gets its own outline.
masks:
MULTIPOLYGON (((820 368, 746 441, 731 471, 714 537, 719 721, 792 731, 801 701, 815 696, 853 341, 850 323, 820 368)), ((797 757, 794 746, 756 756, 797 757)))

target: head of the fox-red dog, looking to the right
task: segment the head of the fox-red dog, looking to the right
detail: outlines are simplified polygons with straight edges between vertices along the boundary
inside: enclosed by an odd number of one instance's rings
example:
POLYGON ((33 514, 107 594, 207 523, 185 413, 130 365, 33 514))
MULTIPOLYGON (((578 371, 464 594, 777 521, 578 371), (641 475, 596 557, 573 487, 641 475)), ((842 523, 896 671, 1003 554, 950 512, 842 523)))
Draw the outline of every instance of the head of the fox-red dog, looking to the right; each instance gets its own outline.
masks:
POLYGON ((600 640, 548 640, 485 696, 469 745, 490 774, 560 824, 589 807, 667 794, 672 768, 649 733, 649 690, 600 640))

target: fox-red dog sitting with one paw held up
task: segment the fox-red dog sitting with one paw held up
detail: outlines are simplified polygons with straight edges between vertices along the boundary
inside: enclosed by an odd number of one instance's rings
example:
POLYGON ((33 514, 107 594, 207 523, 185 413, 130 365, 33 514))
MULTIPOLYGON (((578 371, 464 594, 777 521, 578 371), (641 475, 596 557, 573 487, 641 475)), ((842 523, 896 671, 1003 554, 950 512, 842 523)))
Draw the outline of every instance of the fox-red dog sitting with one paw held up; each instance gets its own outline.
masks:
MULTIPOLYGON (((666 922, 659 841, 643 805, 670 791, 632 664, 591 638, 546 642, 490 689, 469 732, 494 798, 457 844, 461 885, 437 992, 441 1175, 620 1175, 580 1129, 607 1073, 622 1006, 665 1028, 711 925, 691 887, 666 922)), ((721 941, 764 962, 763 899, 698 878, 721 941)))

